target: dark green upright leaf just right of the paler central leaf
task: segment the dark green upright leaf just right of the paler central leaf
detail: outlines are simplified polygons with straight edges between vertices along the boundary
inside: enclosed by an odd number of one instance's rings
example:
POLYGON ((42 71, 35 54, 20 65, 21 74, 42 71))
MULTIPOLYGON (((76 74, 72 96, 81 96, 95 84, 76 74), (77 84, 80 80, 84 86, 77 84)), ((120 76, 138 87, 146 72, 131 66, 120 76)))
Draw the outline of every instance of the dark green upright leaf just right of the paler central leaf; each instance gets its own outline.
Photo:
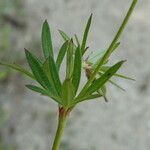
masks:
POLYGON ((77 92, 80 83, 81 67, 82 67, 82 54, 81 54, 81 49, 78 46, 75 52, 74 70, 73 70, 73 78, 72 78, 72 83, 75 89, 75 93, 77 92))

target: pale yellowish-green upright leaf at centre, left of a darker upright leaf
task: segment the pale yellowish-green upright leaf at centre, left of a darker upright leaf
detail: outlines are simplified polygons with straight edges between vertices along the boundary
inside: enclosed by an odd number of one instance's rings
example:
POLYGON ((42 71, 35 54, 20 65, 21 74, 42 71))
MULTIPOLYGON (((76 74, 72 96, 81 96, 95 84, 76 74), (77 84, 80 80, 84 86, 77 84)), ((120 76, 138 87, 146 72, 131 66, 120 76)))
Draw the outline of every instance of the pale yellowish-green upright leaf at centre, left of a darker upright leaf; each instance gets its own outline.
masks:
POLYGON ((66 65, 66 78, 70 79, 73 73, 73 54, 74 54, 74 46, 73 40, 71 39, 67 48, 67 65, 66 65))

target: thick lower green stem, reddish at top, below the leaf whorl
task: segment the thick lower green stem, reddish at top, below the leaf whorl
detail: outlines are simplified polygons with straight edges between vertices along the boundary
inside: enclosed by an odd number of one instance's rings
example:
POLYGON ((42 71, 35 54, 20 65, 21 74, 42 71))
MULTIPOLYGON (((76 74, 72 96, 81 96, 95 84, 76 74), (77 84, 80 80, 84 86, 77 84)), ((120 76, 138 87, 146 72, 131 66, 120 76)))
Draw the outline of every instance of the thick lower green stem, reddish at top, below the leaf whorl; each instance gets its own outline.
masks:
POLYGON ((57 132, 55 135, 52 150, 59 150, 64 128, 66 126, 67 118, 68 115, 66 114, 65 111, 59 112, 58 127, 57 127, 57 132))

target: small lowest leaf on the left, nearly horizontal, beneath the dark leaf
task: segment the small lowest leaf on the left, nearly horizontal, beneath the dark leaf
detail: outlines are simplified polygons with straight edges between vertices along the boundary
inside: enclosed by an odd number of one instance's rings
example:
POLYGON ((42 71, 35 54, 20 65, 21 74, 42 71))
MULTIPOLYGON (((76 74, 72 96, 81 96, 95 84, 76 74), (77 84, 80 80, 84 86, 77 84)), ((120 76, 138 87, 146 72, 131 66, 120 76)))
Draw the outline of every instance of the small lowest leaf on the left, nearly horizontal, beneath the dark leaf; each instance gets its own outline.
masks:
POLYGON ((46 96, 49 96, 51 97, 52 99, 54 99, 56 102, 58 102, 59 104, 62 104, 61 103, 61 100, 59 99, 59 97, 56 97, 54 95, 52 95, 52 93, 50 93, 49 91, 45 90, 45 89, 42 89, 40 87, 37 87, 35 85, 26 85, 26 87, 34 92, 37 92, 37 93, 41 93, 43 95, 46 95, 46 96))

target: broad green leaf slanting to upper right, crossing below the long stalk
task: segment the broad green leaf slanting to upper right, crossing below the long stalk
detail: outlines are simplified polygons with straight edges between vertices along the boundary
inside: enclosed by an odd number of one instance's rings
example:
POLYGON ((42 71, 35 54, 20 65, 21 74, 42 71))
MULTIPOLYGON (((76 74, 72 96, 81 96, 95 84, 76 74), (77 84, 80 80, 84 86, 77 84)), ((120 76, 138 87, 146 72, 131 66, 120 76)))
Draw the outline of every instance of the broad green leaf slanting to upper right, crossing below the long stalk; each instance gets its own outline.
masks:
POLYGON ((90 95, 94 93, 95 91, 97 91, 98 89, 100 89, 118 71, 118 69, 121 67, 123 63, 124 61, 120 61, 116 63, 114 66, 112 66, 100 78, 96 79, 94 83, 91 84, 89 88, 87 88, 87 90, 85 90, 84 92, 81 92, 79 94, 79 97, 85 94, 90 95))

